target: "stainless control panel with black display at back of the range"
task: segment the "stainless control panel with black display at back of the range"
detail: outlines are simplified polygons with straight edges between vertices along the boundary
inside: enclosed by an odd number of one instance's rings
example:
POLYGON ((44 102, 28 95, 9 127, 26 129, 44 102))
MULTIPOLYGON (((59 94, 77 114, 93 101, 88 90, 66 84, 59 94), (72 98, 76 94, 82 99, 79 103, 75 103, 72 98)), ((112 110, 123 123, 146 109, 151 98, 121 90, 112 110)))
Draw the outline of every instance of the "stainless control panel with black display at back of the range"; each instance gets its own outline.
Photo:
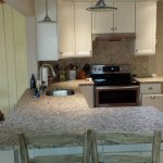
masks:
POLYGON ((130 73, 129 64, 95 64, 91 65, 91 74, 130 73))

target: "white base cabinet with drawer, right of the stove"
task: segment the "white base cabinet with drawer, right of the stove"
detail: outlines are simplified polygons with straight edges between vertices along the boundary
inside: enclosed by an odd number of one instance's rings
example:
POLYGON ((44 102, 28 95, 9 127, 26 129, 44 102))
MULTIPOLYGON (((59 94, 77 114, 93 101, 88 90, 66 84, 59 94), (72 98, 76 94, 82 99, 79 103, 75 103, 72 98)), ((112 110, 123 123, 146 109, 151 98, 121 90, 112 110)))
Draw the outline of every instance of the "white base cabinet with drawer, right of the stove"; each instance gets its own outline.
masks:
POLYGON ((140 84, 141 105, 151 105, 163 111, 163 95, 161 93, 161 83, 140 84))

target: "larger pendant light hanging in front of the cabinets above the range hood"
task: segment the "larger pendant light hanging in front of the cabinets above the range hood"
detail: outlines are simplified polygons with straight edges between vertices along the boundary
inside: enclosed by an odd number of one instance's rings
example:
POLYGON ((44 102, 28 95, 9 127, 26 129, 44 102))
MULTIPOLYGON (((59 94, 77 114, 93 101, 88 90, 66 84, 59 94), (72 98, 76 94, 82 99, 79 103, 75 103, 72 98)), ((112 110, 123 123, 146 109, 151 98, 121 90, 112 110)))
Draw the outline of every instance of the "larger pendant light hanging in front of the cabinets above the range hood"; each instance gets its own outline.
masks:
POLYGON ((95 7, 87 8, 86 10, 98 12, 98 11, 113 11, 117 10, 117 8, 109 7, 105 4, 104 0, 99 0, 95 7))

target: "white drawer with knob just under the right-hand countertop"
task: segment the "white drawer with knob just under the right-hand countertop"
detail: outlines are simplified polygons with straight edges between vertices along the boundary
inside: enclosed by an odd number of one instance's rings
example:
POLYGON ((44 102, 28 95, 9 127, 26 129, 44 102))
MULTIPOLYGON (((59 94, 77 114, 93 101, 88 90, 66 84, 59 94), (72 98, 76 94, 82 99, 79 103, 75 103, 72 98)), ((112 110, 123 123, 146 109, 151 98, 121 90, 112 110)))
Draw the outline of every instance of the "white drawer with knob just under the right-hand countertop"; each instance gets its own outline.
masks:
POLYGON ((140 93, 161 93, 161 84, 140 84, 140 93))

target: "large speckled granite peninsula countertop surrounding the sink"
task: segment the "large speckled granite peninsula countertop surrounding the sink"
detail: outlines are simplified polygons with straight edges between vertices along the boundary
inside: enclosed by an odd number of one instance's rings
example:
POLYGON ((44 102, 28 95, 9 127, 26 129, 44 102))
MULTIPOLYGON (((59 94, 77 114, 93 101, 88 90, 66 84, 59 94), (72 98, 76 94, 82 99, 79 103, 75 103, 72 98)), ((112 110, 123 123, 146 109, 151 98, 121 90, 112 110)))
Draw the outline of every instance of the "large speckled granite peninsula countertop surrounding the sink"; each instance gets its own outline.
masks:
POLYGON ((27 89, 7 121, 0 126, 0 145, 16 143, 16 134, 27 137, 54 133, 163 130, 163 112, 152 106, 88 108, 78 84, 65 82, 51 87, 73 88, 70 97, 34 98, 27 89))

